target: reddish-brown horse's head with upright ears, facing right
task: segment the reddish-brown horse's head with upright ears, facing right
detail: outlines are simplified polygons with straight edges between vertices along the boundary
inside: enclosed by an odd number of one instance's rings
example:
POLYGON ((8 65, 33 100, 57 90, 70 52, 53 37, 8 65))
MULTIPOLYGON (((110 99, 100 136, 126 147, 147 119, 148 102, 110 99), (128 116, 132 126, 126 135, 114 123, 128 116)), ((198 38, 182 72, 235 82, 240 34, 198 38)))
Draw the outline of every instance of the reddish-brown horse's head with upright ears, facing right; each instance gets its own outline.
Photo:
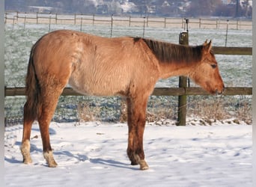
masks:
POLYGON ((195 71, 190 76, 195 83, 200 85, 204 90, 215 94, 224 91, 224 83, 219 74, 219 67, 213 55, 212 42, 204 42, 202 47, 202 58, 195 71))

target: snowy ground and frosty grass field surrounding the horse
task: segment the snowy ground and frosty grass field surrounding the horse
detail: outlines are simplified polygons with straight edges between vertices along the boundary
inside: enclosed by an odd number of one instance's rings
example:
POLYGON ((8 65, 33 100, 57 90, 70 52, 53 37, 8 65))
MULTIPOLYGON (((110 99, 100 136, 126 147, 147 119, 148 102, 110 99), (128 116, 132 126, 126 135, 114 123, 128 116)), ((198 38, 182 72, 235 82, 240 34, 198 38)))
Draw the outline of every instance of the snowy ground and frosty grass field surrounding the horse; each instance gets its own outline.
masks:
MULTIPOLYGON (((5 26, 5 86, 24 86, 31 46, 49 30, 60 28, 80 30, 76 25, 5 26)), ((82 31, 109 37, 111 28, 83 25, 82 31)), ((145 28, 144 35, 178 43, 180 31, 145 28)), ((142 34, 141 27, 112 30, 112 37, 142 34)), ((212 39, 214 46, 225 46, 225 30, 189 31, 191 45, 206 39, 212 39)), ((229 30, 228 46, 252 46, 252 31, 229 30)), ((216 55, 216 59, 227 87, 252 87, 252 56, 216 55)), ((156 84, 177 85, 177 78, 156 84)), ((247 125, 252 124, 251 99, 189 96, 187 126, 174 126, 177 97, 151 96, 144 133, 150 169, 139 171, 126 156, 127 124, 119 121, 120 97, 61 96, 50 126, 58 168, 46 167, 36 122, 31 132, 34 162, 22 164, 19 123, 25 96, 5 97, 5 186, 252 186, 252 126, 247 125)))

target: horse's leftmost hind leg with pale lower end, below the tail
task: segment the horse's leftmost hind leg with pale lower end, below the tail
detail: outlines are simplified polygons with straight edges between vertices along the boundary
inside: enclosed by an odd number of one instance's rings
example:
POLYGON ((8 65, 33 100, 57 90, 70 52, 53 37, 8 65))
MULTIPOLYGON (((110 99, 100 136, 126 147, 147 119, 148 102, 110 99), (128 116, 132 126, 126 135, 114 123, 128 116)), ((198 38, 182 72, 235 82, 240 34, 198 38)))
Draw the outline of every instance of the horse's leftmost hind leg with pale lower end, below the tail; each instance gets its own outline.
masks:
POLYGON ((31 116, 31 111, 29 111, 28 102, 24 105, 24 120, 23 120, 23 135, 22 135, 22 145, 20 150, 23 156, 23 162, 29 164, 32 162, 30 156, 30 135, 31 126, 34 121, 34 117, 31 116))

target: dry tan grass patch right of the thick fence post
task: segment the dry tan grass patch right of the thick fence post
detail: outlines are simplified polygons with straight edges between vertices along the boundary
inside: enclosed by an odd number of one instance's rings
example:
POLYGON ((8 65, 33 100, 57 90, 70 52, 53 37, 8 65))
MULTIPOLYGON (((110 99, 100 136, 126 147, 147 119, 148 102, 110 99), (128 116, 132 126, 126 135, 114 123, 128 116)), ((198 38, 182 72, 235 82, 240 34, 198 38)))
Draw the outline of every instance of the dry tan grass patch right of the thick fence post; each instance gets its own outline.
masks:
POLYGON ((197 97, 189 102, 188 116, 196 116, 207 123, 213 120, 225 120, 232 118, 234 123, 244 121, 252 124, 252 105, 246 96, 239 96, 234 99, 232 96, 205 96, 202 99, 197 97))

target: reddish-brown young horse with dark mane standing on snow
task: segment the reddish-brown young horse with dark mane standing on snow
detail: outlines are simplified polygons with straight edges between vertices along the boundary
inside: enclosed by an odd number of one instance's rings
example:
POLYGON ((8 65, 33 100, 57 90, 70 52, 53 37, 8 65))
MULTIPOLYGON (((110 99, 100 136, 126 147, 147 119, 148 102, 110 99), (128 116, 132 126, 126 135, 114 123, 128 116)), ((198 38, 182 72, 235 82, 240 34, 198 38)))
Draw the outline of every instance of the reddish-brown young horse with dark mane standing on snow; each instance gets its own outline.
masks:
POLYGON ((31 48, 25 78, 20 147, 23 163, 32 162, 31 126, 37 120, 43 157, 50 168, 57 166, 49 124, 59 96, 70 85, 86 95, 124 96, 129 132, 127 155, 131 165, 148 169, 143 149, 147 99, 159 79, 171 76, 187 76, 211 94, 224 91, 211 40, 200 46, 183 46, 142 37, 108 38, 71 30, 43 35, 31 48))

